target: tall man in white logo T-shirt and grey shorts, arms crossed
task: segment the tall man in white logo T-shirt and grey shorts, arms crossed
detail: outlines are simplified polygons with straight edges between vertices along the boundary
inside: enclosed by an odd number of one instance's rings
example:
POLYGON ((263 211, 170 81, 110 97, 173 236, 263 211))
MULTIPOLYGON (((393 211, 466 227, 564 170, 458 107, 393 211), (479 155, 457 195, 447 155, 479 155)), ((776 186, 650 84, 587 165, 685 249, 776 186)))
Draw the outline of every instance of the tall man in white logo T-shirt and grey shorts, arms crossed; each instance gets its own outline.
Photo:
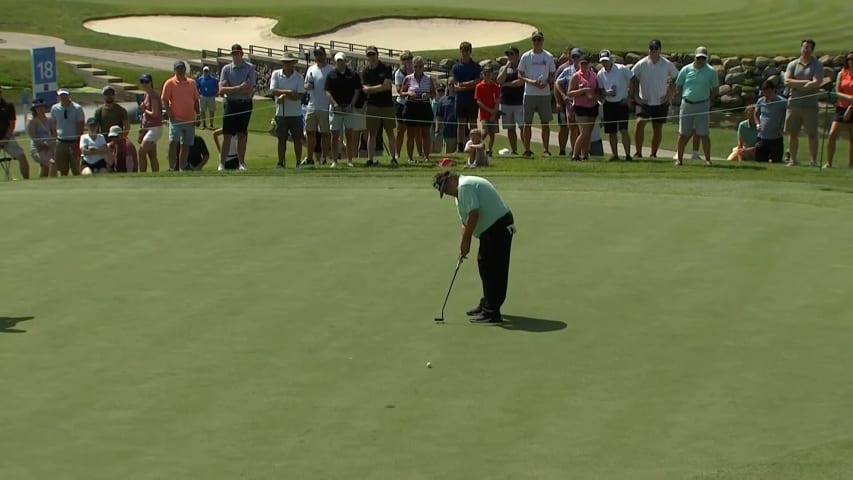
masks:
POLYGON ((542 48, 545 36, 540 31, 531 35, 533 48, 521 55, 518 62, 518 78, 524 81, 524 130, 521 132, 521 143, 524 145, 524 156, 532 157, 530 137, 533 135, 533 114, 539 114, 542 129, 542 155, 551 156, 549 143, 551 141, 551 84, 557 64, 551 52, 542 48))

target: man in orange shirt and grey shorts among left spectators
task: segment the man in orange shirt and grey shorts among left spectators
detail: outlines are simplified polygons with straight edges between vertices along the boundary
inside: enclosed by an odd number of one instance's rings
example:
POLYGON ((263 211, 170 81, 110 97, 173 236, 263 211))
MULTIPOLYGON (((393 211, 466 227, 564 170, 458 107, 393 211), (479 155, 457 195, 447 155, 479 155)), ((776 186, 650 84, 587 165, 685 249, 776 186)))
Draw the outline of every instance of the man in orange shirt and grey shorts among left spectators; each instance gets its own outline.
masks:
POLYGON ((195 80, 187 77, 187 66, 181 60, 175 62, 175 75, 163 82, 160 98, 169 116, 169 170, 179 171, 181 165, 187 164, 201 112, 198 87, 195 80))

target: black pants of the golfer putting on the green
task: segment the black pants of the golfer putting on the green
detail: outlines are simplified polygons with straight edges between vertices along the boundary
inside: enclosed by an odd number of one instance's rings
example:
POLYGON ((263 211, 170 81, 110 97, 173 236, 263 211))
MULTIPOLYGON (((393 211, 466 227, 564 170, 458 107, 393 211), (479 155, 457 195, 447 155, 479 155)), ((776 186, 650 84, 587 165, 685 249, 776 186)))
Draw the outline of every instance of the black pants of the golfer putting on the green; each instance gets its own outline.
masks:
POLYGON ((515 234, 515 221, 512 212, 507 213, 480 235, 480 250, 477 252, 477 266, 480 280, 483 282, 483 311, 500 313, 506 300, 509 283, 509 254, 512 250, 512 236, 515 234))

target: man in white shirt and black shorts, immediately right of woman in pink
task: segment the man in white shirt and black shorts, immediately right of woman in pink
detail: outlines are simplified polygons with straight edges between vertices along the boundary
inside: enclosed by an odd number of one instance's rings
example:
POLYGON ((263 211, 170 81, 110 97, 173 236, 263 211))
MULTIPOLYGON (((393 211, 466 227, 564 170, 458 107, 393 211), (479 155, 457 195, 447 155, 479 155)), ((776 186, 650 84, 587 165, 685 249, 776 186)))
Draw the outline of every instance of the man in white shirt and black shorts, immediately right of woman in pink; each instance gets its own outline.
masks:
POLYGON ((598 71, 598 85, 604 96, 603 120, 604 133, 610 137, 610 160, 619 160, 619 145, 616 134, 622 134, 622 148, 625 149, 625 160, 631 161, 631 136, 628 135, 628 88, 634 73, 625 65, 613 61, 610 50, 602 50, 598 61, 604 68, 598 71))

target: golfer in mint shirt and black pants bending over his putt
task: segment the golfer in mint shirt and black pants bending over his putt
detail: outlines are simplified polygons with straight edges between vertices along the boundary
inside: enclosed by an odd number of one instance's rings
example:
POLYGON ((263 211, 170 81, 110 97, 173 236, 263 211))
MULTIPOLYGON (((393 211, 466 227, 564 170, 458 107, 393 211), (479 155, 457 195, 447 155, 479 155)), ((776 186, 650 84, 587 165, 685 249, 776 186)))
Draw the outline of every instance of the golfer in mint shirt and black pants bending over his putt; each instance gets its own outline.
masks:
POLYGON ((515 222, 512 212, 495 187, 485 178, 439 172, 433 179, 439 198, 444 194, 456 199, 456 210, 462 220, 459 254, 466 257, 471 250, 471 236, 480 239, 477 267, 483 282, 480 304, 467 312, 471 323, 499 324, 501 305, 506 300, 509 281, 509 254, 515 222))

